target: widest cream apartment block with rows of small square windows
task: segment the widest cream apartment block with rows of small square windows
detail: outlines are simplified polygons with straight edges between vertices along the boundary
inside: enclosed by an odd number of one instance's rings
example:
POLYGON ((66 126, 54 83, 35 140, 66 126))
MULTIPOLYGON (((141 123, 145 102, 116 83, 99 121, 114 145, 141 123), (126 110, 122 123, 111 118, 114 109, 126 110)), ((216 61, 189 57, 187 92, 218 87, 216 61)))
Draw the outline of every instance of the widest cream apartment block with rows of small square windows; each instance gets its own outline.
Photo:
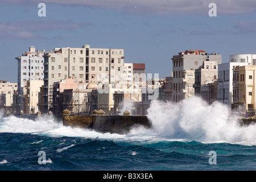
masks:
POLYGON ((44 55, 44 112, 53 107, 53 83, 73 77, 75 82, 115 84, 123 76, 123 49, 55 48, 44 55))

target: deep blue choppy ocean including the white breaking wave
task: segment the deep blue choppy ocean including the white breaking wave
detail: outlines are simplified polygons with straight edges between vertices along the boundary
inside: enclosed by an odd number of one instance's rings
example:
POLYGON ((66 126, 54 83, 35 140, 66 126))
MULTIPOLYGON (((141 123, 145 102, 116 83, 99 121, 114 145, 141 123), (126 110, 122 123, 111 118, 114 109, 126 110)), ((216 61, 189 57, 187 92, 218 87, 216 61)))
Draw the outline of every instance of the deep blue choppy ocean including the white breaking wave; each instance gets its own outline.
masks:
POLYGON ((228 107, 196 97, 151 103, 152 128, 125 135, 2 115, 0 170, 255 171, 256 126, 238 125, 228 107))

